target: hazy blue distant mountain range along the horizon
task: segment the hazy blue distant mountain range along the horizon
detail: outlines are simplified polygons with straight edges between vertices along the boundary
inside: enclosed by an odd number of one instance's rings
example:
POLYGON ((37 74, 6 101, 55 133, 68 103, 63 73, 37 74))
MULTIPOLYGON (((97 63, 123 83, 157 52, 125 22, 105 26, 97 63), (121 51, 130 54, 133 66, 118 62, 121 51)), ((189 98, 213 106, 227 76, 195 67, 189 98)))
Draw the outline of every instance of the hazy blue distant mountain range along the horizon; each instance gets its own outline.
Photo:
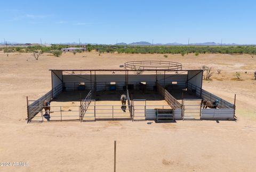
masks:
MULTIPOLYGON (((4 45, 5 42, 0 42, 0 45, 4 45)), ((25 44, 19 44, 18 42, 8 42, 7 44, 9 45, 25 45, 25 44)), ((29 44, 29 43, 28 43, 29 44)), ((79 45, 77 42, 65 42, 65 43, 58 43, 60 45, 79 45)), ((97 43, 80 43, 81 45, 98 45, 97 43)), ((38 44, 37 44, 38 45, 38 44)), ((180 44, 178 42, 172 42, 172 43, 167 43, 167 44, 162 44, 162 43, 157 43, 157 44, 151 44, 150 42, 147 41, 140 41, 140 42, 132 42, 130 44, 126 44, 125 42, 119 42, 115 45, 124 45, 124 46, 187 46, 188 44, 180 44)), ((216 42, 203 42, 203 43, 190 43, 189 45, 191 46, 220 46, 221 44, 216 43, 216 42)), ((238 45, 255 45, 255 44, 222 44, 223 46, 238 46, 238 45)))

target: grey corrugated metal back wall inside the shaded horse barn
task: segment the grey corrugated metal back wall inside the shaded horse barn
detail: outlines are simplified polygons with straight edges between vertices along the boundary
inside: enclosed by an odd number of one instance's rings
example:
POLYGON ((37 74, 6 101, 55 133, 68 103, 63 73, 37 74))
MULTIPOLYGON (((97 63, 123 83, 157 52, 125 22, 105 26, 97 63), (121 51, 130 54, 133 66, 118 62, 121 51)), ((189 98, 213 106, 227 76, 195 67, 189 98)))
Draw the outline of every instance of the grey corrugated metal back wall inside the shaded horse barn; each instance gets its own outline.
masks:
MULTIPOLYGON (((147 89, 152 90, 155 86, 156 79, 161 85, 172 84, 172 82, 177 82, 181 88, 186 88, 187 84, 187 74, 166 74, 165 81, 164 75, 158 74, 157 78, 154 74, 130 74, 128 78, 129 84, 134 84, 134 89, 136 85, 140 82, 147 83, 147 89)), ((97 91, 108 90, 110 82, 116 82, 116 89, 122 90, 125 85, 125 75, 124 74, 99 74, 99 75, 63 75, 63 83, 65 84, 66 90, 76 90, 80 82, 85 83, 85 89, 91 90, 94 87, 97 91), (96 79, 96 85, 94 86, 94 80, 96 79)))

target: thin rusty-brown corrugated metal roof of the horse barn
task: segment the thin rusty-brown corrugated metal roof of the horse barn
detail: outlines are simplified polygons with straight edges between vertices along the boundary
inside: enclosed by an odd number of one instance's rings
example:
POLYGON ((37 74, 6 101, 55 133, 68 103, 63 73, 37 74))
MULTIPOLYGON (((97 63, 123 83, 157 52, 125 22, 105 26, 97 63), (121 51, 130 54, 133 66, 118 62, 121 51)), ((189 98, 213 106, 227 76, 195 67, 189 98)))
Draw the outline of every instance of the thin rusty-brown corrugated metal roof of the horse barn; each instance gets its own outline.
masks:
POLYGON ((49 71, 204 71, 203 69, 138 69, 138 70, 127 70, 127 69, 50 69, 49 71))

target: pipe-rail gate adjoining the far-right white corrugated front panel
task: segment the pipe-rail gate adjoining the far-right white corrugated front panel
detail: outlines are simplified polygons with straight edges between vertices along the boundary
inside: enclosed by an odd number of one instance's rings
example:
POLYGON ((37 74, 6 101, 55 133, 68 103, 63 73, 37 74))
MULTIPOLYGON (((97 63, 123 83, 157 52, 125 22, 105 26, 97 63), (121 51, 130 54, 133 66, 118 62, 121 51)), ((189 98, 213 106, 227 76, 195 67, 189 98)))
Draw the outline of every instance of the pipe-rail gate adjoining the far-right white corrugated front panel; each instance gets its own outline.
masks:
POLYGON ((183 119, 200 119, 202 99, 183 99, 183 119))

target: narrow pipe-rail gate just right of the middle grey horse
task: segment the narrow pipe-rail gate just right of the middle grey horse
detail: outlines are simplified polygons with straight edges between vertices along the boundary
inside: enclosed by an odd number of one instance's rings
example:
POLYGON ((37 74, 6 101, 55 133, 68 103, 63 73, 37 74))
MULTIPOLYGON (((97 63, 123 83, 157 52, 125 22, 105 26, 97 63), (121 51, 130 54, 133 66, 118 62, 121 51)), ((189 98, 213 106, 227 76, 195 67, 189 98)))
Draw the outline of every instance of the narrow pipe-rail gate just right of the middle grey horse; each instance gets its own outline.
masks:
POLYGON ((146 119, 146 99, 132 100, 132 119, 133 120, 146 119))

